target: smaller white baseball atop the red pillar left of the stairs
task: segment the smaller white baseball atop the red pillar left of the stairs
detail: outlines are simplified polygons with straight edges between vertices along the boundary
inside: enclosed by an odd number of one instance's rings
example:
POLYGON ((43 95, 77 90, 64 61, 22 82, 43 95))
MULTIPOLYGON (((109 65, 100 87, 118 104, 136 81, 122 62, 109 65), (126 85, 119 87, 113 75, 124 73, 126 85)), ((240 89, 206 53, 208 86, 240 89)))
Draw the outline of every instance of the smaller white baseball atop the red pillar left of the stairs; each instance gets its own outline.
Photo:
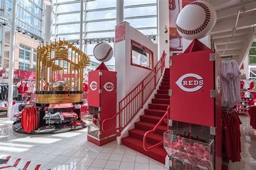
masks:
POLYGON ((99 61, 109 61, 113 56, 113 48, 106 42, 100 42, 94 47, 93 55, 99 61))

